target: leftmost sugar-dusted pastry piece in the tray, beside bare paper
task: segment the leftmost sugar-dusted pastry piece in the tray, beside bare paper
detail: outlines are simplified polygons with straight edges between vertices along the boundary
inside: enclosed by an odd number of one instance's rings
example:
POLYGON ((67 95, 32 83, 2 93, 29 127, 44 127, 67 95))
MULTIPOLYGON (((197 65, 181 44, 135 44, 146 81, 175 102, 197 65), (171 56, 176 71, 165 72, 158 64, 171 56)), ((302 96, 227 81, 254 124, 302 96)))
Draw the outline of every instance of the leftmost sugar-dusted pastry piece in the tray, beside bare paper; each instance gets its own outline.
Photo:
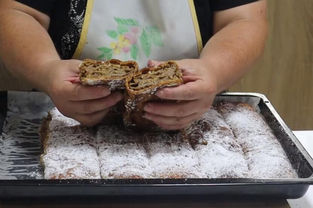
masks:
POLYGON ((42 155, 44 178, 101 178, 92 132, 77 121, 63 116, 56 108, 50 114, 49 138, 42 155))

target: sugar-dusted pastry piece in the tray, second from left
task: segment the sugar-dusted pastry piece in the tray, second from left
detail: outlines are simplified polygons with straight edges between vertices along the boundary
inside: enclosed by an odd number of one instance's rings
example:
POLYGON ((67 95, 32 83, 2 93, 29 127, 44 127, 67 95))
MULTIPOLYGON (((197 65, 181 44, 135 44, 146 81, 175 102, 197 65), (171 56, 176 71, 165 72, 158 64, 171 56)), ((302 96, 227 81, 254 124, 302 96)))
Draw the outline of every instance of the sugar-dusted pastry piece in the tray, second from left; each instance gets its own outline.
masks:
POLYGON ((99 126, 97 149, 102 178, 153 178, 149 158, 139 135, 123 126, 99 126))

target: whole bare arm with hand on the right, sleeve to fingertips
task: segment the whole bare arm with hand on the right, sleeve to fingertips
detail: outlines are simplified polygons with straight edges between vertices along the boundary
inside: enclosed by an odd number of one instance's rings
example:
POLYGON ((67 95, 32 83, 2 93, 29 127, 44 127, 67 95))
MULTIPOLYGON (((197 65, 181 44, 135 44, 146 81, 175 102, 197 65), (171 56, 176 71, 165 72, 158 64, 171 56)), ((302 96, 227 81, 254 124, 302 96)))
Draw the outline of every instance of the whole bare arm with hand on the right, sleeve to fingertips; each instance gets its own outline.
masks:
POLYGON ((180 102, 149 103, 145 117, 168 130, 182 129, 199 119, 215 95, 238 82, 262 54, 267 35, 265 13, 265 0, 215 12, 215 34, 200 59, 178 61, 184 84, 156 93, 180 102))

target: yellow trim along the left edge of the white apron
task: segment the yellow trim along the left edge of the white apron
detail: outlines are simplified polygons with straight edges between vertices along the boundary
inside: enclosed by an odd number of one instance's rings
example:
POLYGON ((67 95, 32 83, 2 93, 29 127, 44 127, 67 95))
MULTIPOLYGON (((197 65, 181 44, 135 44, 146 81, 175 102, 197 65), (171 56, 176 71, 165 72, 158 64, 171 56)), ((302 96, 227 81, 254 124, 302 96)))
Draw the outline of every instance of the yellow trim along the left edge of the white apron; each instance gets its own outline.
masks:
POLYGON ((76 47, 76 50, 74 52, 72 59, 78 59, 85 46, 93 4, 94 4, 94 0, 87 1, 84 23, 83 23, 83 27, 80 33, 80 39, 79 39, 78 45, 76 47))

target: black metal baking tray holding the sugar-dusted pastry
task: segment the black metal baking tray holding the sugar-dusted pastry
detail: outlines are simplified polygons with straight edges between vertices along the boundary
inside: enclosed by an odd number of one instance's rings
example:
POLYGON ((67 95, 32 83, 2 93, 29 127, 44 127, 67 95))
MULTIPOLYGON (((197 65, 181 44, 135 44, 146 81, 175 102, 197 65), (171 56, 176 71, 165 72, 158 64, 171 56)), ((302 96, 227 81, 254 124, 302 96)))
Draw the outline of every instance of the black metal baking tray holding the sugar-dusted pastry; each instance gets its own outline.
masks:
MULTIPOLYGON (((31 96, 32 92, 29 93, 31 96)), ((258 97, 261 114, 271 126, 297 171, 296 179, 99 179, 0 180, 0 197, 204 195, 276 197, 303 196, 313 184, 313 160, 269 100, 259 93, 223 93, 218 98, 258 97)), ((0 133, 7 113, 7 92, 0 92, 0 133)))

